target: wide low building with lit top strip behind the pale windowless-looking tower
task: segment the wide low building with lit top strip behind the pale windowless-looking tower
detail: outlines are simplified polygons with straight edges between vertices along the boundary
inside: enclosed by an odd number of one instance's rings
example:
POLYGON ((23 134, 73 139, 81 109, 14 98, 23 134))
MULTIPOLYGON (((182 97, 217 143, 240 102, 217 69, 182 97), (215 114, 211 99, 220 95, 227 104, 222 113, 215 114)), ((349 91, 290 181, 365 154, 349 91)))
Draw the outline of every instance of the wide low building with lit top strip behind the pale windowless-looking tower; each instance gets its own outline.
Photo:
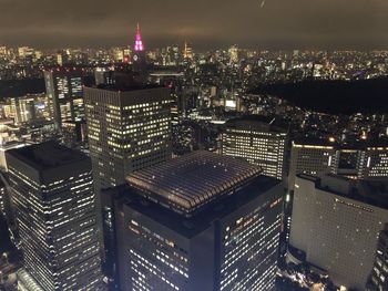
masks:
POLYGON ((321 177, 336 174, 354 179, 388 177, 388 147, 384 141, 339 145, 321 139, 294 141, 288 184, 294 189, 297 174, 321 177))

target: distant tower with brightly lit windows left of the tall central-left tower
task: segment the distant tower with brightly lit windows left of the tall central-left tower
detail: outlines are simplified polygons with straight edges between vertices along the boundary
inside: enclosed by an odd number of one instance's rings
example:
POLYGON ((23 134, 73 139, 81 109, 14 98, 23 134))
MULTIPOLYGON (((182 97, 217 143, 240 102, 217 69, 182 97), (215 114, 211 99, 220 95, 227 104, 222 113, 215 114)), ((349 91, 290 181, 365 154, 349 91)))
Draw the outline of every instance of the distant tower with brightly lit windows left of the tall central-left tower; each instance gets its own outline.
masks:
POLYGON ((58 69, 44 72, 50 108, 58 128, 62 122, 84 119, 82 73, 76 70, 58 69))

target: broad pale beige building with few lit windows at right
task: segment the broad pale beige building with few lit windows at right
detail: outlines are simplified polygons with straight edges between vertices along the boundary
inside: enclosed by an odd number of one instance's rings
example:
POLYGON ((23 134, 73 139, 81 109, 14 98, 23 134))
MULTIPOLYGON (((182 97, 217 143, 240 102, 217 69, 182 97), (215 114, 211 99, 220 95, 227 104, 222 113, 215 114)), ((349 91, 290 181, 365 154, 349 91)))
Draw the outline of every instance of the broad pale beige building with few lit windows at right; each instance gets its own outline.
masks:
POLYGON ((298 175, 289 245, 335 284, 364 290, 388 222, 387 201, 388 179, 298 175))

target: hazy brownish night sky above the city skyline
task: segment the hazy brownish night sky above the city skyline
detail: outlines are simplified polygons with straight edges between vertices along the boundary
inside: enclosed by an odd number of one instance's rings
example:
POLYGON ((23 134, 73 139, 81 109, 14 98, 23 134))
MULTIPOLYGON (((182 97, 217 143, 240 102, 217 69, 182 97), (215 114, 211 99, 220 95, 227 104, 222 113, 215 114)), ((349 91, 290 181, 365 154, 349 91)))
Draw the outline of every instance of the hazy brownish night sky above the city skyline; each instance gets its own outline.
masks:
POLYGON ((388 49, 388 0, 0 0, 0 45, 388 49))

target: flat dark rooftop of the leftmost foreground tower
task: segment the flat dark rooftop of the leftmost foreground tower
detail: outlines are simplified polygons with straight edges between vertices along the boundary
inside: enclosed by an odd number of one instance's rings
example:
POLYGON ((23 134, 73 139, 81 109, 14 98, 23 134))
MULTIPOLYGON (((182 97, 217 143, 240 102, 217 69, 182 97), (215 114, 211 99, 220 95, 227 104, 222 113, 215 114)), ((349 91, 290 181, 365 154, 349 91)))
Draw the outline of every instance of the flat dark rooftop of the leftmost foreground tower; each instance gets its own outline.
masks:
POLYGON ((81 152, 54 142, 10 149, 7 154, 17 157, 37 170, 52 169, 88 158, 81 152))

